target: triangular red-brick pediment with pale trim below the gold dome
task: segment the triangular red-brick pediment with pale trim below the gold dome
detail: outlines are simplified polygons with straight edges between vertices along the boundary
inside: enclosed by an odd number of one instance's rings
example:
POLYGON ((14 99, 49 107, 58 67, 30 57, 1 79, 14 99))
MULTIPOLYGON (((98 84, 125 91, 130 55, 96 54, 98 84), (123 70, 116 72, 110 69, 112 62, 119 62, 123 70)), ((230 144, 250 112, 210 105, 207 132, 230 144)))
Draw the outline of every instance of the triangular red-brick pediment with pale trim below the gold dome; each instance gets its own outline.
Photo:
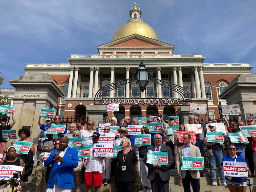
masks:
POLYGON ((174 45, 164 43, 155 39, 144 37, 142 35, 133 34, 122 39, 111 41, 98 46, 99 52, 109 51, 171 51, 173 52, 174 45))

